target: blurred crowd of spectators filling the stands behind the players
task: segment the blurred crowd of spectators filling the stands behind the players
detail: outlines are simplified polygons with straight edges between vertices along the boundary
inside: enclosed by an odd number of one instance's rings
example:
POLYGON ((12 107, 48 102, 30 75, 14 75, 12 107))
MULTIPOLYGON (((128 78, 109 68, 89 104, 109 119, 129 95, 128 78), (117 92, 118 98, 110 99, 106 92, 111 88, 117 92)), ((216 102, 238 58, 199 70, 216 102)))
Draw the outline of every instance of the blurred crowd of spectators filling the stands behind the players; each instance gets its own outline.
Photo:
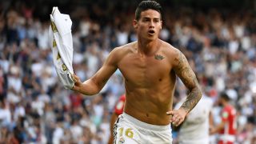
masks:
MULTIPOLYGON (((54 70, 48 37, 52 5, 47 2, 0 3, 0 143, 106 143, 110 114, 125 93, 122 74, 117 70, 94 97, 65 90, 54 70)), ((82 81, 102 66, 114 47, 136 41, 132 4, 58 5, 73 21, 73 67, 82 81)), ((214 122, 220 122, 218 94, 226 91, 238 112, 237 143, 255 142, 253 11, 163 8, 160 38, 188 58, 204 95, 214 102, 214 122)), ((184 96, 186 88, 178 81, 174 104, 184 96)))

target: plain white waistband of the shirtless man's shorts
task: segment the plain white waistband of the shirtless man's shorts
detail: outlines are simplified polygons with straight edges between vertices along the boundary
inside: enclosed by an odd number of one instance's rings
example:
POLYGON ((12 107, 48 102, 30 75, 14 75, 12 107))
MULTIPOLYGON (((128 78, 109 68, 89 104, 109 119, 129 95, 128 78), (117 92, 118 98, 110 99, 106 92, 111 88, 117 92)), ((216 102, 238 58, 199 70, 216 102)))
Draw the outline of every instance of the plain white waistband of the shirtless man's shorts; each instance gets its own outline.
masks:
POLYGON ((170 124, 166 126, 151 125, 149 123, 142 122, 126 113, 123 113, 122 116, 123 118, 127 119, 129 122, 134 123, 134 125, 140 126, 146 130, 156 130, 156 131, 171 130, 170 124))

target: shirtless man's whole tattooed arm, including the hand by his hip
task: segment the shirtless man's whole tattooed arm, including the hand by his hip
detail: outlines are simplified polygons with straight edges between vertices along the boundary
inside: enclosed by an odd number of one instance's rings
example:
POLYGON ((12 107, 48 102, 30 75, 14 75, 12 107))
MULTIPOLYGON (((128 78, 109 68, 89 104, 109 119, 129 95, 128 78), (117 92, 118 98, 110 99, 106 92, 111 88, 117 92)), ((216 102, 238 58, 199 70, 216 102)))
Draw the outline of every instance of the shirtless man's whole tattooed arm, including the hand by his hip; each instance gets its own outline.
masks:
POLYGON ((198 84, 198 80, 194 74, 194 71, 190 68, 189 62, 180 50, 177 50, 178 54, 174 58, 174 72, 182 80, 186 88, 189 90, 186 101, 182 103, 182 106, 178 110, 170 111, 167 114, 173 115, 171 122, 174 125, 182 123, 186 117, 186 114, 190 112, 202 98, 202 92, 198 84))

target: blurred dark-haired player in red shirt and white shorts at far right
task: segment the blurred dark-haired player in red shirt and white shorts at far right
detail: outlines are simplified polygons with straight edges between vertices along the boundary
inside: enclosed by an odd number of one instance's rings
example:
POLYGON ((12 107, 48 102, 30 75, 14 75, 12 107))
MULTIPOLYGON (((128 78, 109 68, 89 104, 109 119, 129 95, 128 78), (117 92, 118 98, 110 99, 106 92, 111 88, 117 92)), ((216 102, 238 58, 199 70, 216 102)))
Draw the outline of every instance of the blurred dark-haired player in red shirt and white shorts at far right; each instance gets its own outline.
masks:
POLYGON ((218 133, 218 144, 233 144, 236 134, 236 110, 229 103, 229 96, 222 93, 219 98, 222 109, 222 122, 210 130, 210 134, 218 133))

